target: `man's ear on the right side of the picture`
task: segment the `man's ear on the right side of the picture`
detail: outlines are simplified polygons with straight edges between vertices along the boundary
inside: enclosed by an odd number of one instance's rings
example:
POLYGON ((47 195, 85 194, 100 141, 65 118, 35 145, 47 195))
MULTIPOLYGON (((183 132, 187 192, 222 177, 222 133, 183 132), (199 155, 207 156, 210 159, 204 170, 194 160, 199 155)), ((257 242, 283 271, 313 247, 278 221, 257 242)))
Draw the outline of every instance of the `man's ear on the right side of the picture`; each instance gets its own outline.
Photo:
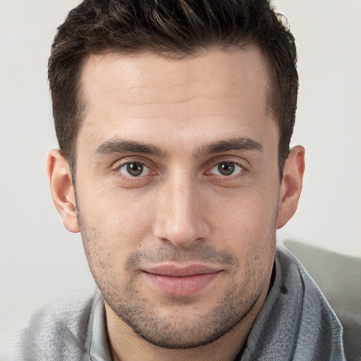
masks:
POLYGON ((298 145, 290 150, 283 168, 283 178, 279 192, 277 229, 283 227, 296 212, 304 172, 305 149, 298 145))

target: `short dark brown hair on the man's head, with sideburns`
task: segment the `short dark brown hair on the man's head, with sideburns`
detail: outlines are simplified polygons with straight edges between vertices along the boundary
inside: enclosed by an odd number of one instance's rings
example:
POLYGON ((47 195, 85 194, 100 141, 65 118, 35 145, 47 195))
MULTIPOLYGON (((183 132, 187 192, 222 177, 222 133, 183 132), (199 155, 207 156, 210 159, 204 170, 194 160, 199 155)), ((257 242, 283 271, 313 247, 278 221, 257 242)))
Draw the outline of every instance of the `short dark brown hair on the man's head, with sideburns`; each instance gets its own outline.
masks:
POLYGON ((256 44, 269 64, 269 108, 279 126, 279 171, 288 157, 298 94, 295 39, 268 0, 85 0, 60 25, 49 58, 61 153, 75 166, 84 103, 80 75, 90 54, 153 51, 183 57, 209 47, 256 44))

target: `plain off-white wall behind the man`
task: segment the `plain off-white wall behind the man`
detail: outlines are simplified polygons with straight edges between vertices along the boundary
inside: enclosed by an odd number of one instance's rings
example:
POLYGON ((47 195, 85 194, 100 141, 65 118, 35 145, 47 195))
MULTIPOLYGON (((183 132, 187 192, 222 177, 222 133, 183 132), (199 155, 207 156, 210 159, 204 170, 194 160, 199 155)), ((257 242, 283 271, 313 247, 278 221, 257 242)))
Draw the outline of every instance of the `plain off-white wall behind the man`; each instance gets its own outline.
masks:
MULTIPOLYGON (((0 329, 93 281, 47 182, 56 147, 47 59, 76 0, 0 0, 0 329)), ((292 144, 306 148, 298 212, 278 233, 361 256, 361 1, 275 0, 296 37, 300 95, 292 144)))

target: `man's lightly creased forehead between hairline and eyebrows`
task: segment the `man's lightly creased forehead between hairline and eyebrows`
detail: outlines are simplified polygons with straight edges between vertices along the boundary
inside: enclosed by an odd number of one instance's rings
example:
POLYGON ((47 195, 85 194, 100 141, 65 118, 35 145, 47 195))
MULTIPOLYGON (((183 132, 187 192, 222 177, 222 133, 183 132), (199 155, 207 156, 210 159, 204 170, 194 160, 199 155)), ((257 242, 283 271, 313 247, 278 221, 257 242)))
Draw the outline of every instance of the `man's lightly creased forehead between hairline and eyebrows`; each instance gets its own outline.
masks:
POLYGON ((185 130, 192 128, 201 141, 216 137, 217 129, 229 128, 226 137, 234 136, 237 123, 247 137, 252 128, 262 133, 261 123, 270 118, 268 88, 267 63, 251 45, 185 59, 152 53, 92 55, 82 70, 86 110, 79 136, 85 133, 100 142, 128 133, 133 137, 137 129, 161 140, 173 129, 178 138, 190 140, 185 130))

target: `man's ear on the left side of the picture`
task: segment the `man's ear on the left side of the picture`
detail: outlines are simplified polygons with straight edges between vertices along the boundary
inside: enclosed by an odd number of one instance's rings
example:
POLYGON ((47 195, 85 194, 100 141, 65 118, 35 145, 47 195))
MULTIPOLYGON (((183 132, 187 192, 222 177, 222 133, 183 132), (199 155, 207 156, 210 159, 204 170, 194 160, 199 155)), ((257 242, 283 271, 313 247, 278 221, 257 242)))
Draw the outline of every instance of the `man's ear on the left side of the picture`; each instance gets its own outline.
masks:
POLYGON ((51 197, 61 219, 63 219, 65 228, 74 233, 79 232, 70 166, 57 149, 51 149, 49 152, 47 173, 50 181, 51 197))

